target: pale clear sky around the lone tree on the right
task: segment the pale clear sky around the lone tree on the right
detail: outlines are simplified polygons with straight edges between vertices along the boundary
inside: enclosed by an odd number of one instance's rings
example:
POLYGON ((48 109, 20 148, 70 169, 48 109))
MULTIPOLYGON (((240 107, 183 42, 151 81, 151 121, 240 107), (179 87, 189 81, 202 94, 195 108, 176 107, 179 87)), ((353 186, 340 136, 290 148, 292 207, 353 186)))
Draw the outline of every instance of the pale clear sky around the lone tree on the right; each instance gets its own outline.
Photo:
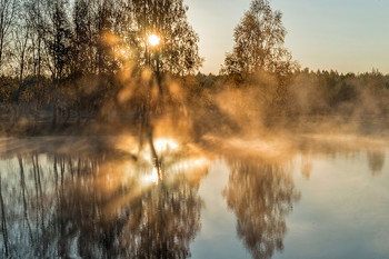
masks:
MULTIPOLYGON (((218 73, 251 0, 184 0, 200 37, 203 73, 218 73)), ((389 0, 271 0, 283 13, 285 46, 301 68, 389 73, 389 0)))

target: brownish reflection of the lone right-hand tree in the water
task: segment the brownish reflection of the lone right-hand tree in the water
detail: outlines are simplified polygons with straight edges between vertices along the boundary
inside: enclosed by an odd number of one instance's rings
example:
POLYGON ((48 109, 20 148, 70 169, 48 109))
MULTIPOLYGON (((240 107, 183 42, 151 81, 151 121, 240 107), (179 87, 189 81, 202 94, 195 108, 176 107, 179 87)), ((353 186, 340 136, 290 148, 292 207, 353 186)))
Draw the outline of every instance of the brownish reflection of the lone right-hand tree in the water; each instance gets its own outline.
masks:
POLYGON ((277 166, 233 161, 230 168, 225 196, 237 216, 238 236, 253 258, 271 258, 283 249, 285 218, 300 195, 277 166))

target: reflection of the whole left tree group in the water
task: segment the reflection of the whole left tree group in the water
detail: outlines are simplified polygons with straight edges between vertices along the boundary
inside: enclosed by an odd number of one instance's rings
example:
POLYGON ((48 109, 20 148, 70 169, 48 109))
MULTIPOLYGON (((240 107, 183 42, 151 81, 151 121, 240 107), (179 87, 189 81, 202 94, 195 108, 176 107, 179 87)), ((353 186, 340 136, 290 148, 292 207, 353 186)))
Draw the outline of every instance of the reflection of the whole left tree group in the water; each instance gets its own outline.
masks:
POLYGON ((109 150, 11 160, 0 180, 0 257, 189 257, 200 229, 199 181, 163 162, 163 179, 144 183, 141 160, 109 150))

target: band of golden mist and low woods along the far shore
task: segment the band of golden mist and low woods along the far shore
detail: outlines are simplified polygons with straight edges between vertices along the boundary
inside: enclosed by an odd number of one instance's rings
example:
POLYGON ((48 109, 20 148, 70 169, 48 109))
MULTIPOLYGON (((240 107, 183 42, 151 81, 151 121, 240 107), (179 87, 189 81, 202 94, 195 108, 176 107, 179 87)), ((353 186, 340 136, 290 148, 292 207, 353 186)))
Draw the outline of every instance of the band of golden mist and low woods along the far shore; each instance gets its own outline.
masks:
POLYGON ((305 69, 282 77, 164 74, 158 80, 152 71, 129 69, 110 77, 64 79, 61 88, 40 78, 37 89, 31 78, 20 89, 17 78, 2 77, 0 131, 120 133, 138 131, 147 120, 201 138, 267 131, 386 135, 388 126, 389 76, 375 70, 342 74, 305 69), (60 97, 56 107, 53 94, 60 97))

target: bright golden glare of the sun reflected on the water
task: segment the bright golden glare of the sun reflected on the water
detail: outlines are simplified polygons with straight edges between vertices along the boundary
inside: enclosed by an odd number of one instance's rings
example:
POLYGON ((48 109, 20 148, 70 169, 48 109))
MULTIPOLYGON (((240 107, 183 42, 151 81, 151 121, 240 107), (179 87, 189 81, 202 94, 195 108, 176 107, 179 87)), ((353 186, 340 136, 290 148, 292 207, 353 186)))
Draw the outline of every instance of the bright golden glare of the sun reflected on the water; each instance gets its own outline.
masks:
MULTIPOLYGON (((202 175, 205 168, 209 167, 209 160, 201 153, 182 152, 182 145, 170 137, 159 137, 153 140, 153 148, 156 149, 158 159, 164 161, 163 166, 156 165, 154 158, 150 156, 150 145, 139 146, 139 140, 132 136, 122 136, 117 142, 116 148, 128 153, 128 160, 122 165, 122 168, 116 168, 117 179, 116 185, 112 181, 110 188, 118 188, 119 186, 130 185, 139 180, 139 188, 149 188, 153 185, 159 185, 166 176, 169 179, 176 176, 186 175, 190 178, 197 179, 197 176, 202 175), (131 159, 134 157, 136 159, 131 159), (119 173, 123 172, 123 173, 119 173), (120 180, 121 179, 121 180, 120 180)), ((161 161, 160 160, 160 161, 161 161)))

